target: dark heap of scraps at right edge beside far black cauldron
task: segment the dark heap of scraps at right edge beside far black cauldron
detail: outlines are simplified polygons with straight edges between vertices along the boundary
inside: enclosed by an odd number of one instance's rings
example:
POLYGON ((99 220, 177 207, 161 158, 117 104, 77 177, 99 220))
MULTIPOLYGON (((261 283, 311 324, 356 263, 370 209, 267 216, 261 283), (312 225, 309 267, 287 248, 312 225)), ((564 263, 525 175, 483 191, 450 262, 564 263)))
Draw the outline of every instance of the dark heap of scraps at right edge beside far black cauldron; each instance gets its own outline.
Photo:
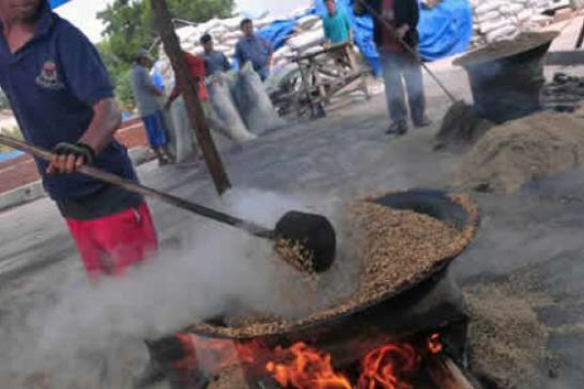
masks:
POLYGON ((555 73, 551 83, 541 90, 541 103, 548 110, 574 113, 584 101, 584 77, 555 73))

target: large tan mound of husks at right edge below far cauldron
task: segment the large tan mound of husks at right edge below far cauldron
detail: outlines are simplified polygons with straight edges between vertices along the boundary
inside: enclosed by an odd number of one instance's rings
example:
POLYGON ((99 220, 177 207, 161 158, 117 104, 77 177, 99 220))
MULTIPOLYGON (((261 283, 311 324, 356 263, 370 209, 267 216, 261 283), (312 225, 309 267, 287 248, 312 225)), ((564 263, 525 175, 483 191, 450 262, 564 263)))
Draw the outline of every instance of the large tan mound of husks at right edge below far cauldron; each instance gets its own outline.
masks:
POLYGON ((543 112, 492 128, 463 158, 457 180, 467 188, 513 192, 583 161, 582 119, 543 112))

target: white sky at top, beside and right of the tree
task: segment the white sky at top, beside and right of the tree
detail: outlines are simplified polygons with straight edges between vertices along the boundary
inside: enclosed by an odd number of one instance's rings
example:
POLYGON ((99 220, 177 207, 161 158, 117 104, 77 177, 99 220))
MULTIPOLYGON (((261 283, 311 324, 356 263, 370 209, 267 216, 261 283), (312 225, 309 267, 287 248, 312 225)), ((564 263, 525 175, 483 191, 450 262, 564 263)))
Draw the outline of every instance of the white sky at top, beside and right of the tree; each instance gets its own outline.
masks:
MULTIPOLYGON (((95 14, 112 2, 113 0, 72 0, 57 8, 57 13, 75 24, 93 43, 96 43, 100 40, 103 26, 95 14)), ((236 0, 236 3, 239 11, 269 10, 270 13, 278 15, 287 10, 307 6, 310 4, 310 0, 236 0)))

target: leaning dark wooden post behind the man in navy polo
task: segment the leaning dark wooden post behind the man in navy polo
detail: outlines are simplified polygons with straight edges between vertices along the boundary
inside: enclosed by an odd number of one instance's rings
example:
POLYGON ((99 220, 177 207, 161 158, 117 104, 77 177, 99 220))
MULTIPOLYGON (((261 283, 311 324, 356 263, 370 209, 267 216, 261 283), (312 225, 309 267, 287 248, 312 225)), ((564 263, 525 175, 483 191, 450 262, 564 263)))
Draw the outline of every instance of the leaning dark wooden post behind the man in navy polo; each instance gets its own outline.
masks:
POLYGON ((164 44, 164 50, 171 60, 172 69, 175 72, 176 85, 182 91, 183 99, 185 99, 190 124, 194 128, 197 141, 199 141, 199 146, 207 162, 207 168, 211 173, 215 188, 218 194, 221 195, 231 188, 231 184, 225 172, 223 162, 221 161, 221 156, 217 152, 213 138, 211 138, 207 118, 204 115, 203 107, 199 101, 198 87, 190 79, 189 69, 185 63, 179 39, 175 34, 166 1, 150 0, 150 3, 154 12, 158 32, 164 44))

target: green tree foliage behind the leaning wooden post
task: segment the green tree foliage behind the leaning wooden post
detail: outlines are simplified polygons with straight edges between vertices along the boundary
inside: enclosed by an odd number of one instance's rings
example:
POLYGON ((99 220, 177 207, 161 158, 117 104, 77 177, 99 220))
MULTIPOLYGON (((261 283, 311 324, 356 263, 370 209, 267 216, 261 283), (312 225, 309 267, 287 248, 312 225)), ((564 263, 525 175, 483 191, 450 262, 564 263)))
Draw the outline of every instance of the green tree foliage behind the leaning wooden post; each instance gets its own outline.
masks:
MULTIPOLYGON (((212 17, 228 17, 234 0, 166 0, 171 15, 195 23, 212 17)), ((116 95, 124 106, 132 101, 128 71, 135 53, 155 43, 158 33, 149 0, 115 0, 98 13, 105 24, 105 40, 98 45, 112 80, 116 95)), ((153 54, 156 54, 154 52, 153 54)))

